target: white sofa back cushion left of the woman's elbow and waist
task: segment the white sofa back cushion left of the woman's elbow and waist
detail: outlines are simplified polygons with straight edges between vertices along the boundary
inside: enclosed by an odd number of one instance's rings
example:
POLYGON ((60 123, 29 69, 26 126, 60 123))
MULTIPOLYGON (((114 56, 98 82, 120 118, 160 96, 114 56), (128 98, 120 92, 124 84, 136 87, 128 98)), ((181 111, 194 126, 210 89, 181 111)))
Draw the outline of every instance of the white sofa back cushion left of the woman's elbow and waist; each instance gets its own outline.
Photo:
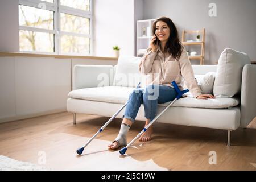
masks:
POLYGON ((142 82, 143 75, 139 73, 140 61, 141 57, 120 56, 115 69, 113 86, 136 87, 139 82, 142 82))

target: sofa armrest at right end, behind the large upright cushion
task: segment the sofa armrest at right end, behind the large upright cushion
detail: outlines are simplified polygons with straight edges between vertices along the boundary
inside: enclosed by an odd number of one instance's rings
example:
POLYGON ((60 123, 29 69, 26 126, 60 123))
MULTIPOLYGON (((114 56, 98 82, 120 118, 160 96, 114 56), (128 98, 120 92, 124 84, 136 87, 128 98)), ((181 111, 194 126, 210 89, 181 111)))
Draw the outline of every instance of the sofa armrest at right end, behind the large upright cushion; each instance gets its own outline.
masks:
POLYGON ((246 64, 242 72, 241 123, 246 127, 256 116, 256 65, 246 64))

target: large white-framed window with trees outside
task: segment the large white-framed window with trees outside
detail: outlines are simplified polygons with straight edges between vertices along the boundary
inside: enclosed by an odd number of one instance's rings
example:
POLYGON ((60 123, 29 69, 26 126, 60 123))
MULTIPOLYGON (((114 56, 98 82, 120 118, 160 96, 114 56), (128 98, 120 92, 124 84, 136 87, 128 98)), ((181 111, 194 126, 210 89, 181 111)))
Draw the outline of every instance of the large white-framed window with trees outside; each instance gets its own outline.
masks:
POLYGON ((92 0, 19 0, 19 49, 89 55, 92 0))

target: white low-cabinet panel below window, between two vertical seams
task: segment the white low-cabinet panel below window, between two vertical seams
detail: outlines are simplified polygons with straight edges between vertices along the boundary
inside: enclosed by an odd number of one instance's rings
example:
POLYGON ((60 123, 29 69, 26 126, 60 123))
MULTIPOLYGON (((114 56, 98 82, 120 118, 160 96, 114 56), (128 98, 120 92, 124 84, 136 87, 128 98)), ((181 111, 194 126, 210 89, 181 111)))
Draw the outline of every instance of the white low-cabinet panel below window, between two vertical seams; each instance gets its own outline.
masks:
POLYGON ((71 59, 16 57, 16 114, 65 111, 71 91, 71 59))

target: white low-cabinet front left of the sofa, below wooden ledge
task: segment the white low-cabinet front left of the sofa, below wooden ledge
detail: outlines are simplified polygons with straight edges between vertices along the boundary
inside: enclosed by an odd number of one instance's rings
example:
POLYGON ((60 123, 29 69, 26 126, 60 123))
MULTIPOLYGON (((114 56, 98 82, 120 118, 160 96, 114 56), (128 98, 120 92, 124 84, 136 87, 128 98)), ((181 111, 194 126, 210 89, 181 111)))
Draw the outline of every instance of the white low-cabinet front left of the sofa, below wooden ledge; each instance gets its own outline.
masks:
POLYGON ((66 110, 71 59, 0 56, 0 123, 66 110))

